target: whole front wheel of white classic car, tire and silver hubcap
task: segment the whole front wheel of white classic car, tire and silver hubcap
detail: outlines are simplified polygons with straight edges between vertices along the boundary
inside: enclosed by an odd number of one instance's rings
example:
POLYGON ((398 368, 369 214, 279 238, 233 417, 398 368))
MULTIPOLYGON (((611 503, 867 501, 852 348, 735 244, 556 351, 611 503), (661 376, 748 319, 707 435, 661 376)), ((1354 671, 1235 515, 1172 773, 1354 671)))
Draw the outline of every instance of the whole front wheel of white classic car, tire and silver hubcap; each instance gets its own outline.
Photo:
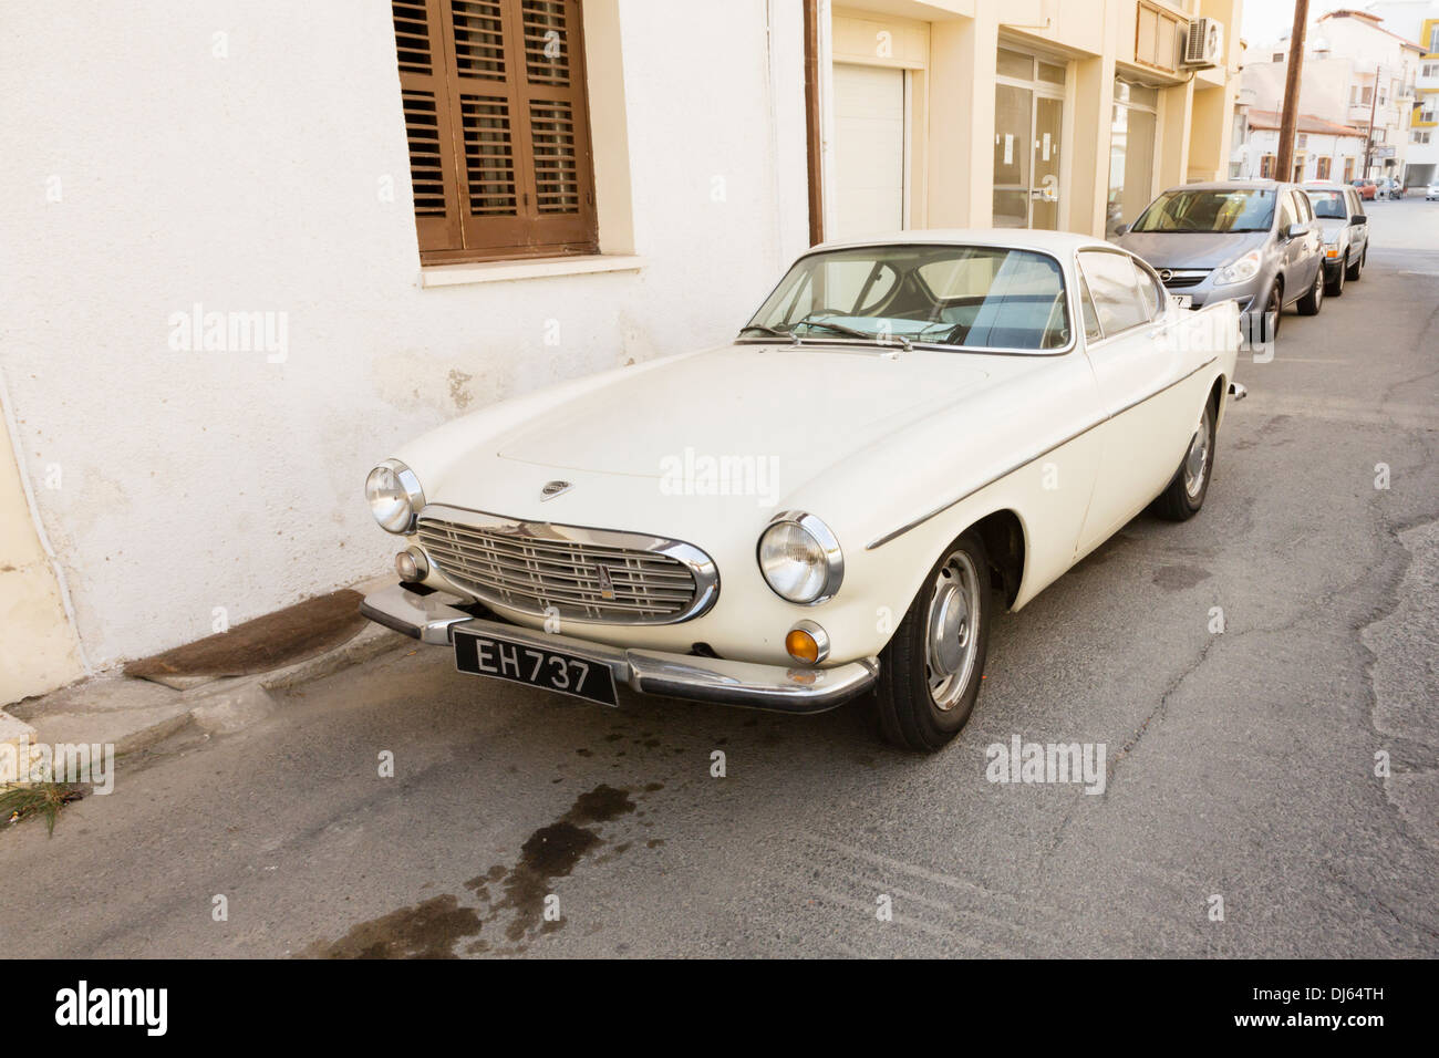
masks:
POLYGON ((885 741, 934 753, 974 711, 993 607, 989 551, 973 530, 930 570, 879 656, 875 701, 885 741))

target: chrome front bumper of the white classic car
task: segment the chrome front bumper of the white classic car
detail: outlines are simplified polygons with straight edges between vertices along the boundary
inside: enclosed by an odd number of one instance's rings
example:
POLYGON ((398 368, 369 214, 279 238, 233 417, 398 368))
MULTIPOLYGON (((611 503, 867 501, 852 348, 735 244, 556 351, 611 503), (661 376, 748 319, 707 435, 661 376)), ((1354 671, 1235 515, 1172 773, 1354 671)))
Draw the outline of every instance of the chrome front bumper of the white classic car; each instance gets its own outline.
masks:
POLYGON ((776 713, 823 713, 869 689, 879 675, 873 658, 835 668, 783 668, 689 654, 623 649, 574 636, 534 632, 485 620, 456 609, 462 599, 445 592, 419 594, 403 584, 367 594, 360 612, 370 620, 423 643, 449 646, 456 626, 538 649, 566 651, 609 665, 617 684, 640 694, 663 694, 776 713))

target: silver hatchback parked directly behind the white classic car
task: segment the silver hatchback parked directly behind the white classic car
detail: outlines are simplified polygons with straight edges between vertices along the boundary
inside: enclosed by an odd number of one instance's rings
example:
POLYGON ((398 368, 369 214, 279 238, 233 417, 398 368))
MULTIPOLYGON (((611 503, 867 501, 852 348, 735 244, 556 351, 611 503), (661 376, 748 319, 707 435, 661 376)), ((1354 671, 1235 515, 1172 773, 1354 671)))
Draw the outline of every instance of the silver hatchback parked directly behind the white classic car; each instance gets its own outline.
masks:
POLYGON ((1324 302, 1322 245, 1298 184, 1223 181, 1171 187, 1115 242, 1158 269, 1184 305, 1233 298, 1245 333, 1269 340, 1288 305, 1324 302))

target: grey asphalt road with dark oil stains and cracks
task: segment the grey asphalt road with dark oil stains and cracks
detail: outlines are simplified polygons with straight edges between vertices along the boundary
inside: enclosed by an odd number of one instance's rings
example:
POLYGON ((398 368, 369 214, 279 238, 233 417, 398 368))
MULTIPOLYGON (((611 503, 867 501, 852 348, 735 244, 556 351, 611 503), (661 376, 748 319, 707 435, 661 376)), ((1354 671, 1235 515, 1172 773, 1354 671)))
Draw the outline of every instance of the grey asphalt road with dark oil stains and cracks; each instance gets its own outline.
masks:
POLYGON ((948 751, 396 651, 0 832, 0 951, 1439 954, 1439 204, 1371 214, 1363 282, 1240 366, 1200 517, 1002 618, 948 751), (987 782, 1016 734, 1105 744, 1105 792, 987 782))

